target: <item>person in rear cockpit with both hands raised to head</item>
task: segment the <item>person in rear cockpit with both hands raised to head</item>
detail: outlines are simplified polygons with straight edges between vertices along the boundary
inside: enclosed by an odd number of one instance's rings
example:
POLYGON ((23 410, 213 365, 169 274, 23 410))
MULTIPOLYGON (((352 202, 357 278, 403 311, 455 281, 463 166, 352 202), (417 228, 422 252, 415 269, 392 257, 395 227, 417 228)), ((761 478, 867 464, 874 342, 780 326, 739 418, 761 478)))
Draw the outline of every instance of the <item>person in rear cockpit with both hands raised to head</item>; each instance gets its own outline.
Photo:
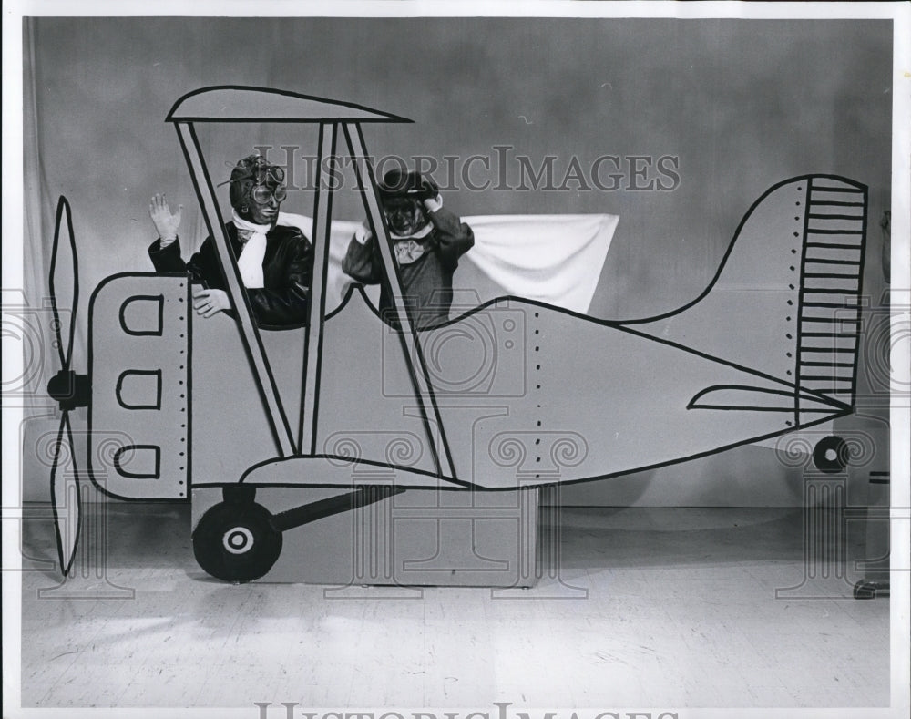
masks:
MULTIPOLYGON (((391 169, 377 189, 404 302, 415 327, 445 322, 453 301, 453 274, 459 258, 475 244, 474 233, 443 207, 436 183, 416 171, 391 169)), ((342 269, 357 282, 382 283, 380 313, 387 322, 396 324, 379 247, 366 228, 349 242, 342 269)))

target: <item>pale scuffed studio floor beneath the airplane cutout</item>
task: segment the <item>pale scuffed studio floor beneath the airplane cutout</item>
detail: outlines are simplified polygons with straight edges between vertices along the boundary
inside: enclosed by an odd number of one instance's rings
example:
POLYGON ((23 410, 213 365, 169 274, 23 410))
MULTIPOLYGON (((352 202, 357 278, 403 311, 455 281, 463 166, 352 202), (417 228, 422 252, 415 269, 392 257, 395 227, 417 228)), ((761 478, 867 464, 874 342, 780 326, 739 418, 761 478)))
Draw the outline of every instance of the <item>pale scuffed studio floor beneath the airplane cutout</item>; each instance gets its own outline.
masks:
POLYGON ((230 586, 186 506, 107 526, 107 571, 56 588, 50 523, 24 523, 24 706, 888 704, 889 601, 804 582, 800 509, 565 508, 559 571, 505 592, 230 586))

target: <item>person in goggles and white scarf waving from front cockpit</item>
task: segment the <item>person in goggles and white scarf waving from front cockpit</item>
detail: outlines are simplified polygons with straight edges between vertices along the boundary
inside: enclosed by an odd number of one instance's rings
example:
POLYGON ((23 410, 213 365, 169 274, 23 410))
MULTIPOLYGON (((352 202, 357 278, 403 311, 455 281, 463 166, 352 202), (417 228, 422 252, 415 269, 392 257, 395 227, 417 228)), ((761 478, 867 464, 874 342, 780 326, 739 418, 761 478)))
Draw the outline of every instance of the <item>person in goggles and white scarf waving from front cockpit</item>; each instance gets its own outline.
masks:
MULTIPOLYGON (((310 241, 294 226, 281 223, 279 208, 287 196, 284 171, 261 155, 249 155, 231 171, 231 221, 225 224, 231 255, 257 324, 305 324, 308 317, 312 253, 310 241)), ((224 183, 222 183, 224 184, 224 183)), ((183 206, 171 213, 163 195, 155 195, 148 214, 159 239, 148 248, 158 272, 189 272, 203 289, 193 293, 202 317, 230 311, 228 283, 211 237, 184 262, 178 228, 183 206)))

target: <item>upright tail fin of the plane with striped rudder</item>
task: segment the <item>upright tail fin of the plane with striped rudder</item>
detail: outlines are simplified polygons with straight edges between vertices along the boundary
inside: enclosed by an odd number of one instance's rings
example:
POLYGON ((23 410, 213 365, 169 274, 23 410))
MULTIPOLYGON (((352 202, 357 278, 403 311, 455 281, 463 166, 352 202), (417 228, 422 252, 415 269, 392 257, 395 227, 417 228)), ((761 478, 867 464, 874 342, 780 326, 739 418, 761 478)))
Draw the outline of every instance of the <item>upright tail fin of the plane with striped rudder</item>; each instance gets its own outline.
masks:
POLYGON ((865 185, 785 180, 746 213, 700 297, 624 324, 854 406, 866 224, 865 185))

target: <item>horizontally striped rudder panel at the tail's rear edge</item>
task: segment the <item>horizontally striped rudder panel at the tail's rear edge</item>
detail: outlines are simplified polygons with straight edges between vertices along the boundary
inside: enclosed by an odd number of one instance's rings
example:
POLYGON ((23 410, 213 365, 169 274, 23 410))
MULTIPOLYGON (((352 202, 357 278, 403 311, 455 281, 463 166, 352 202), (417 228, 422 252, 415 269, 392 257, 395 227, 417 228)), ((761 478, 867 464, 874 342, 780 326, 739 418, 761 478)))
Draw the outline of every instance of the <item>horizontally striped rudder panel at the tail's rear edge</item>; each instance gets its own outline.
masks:
MULTIPOLYGON (((797 337, 798 388, 853 406, 860 341, 866 189, 813 177, 807 192, 797 337)), ((799 390, 798 390, 799 391, 799 390)))

